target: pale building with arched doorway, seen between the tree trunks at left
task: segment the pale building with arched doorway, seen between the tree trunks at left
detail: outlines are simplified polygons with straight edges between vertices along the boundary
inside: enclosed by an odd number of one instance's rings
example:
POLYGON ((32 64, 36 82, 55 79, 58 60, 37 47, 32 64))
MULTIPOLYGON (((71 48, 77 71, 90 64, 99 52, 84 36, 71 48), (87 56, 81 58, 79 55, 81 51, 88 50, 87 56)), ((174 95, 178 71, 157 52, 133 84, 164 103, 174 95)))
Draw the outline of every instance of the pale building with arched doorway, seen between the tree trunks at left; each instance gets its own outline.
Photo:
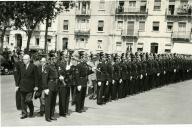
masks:
MULTIPOLYGON (((57 20, 49 23, 48 31, 48 50, 55 50, 57 20)), ((30 49, 44 49, 45 42, 45 24, 37 25, 30 41, 30 49)), ((24 31, 9 29, 4 37, 4 48, 14 50, 17 48, 25 49, 27 46, 27 35, 24 31)))

